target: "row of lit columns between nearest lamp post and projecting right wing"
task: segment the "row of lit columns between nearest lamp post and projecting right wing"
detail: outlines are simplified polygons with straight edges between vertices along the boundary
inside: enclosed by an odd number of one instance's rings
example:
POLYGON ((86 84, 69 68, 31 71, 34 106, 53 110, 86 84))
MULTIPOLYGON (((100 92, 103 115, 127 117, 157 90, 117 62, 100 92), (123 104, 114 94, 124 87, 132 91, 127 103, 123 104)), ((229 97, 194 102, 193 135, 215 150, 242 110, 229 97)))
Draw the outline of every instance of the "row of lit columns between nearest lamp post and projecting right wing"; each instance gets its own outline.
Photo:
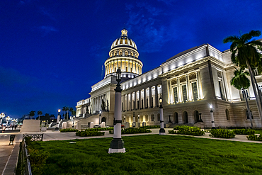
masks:
POLYGON ((149 86, 145 89, 122 95, 122 111, 135 111, 144 108, 156 108, 161 97, 161 85, 149 86))

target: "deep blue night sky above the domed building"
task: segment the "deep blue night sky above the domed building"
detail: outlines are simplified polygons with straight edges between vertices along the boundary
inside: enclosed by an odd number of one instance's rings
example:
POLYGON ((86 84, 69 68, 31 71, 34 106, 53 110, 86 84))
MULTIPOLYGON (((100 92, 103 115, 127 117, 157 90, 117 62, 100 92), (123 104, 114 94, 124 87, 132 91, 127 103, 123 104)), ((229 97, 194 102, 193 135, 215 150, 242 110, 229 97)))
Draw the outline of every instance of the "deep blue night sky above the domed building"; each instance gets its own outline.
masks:
POLYGON ((191 47, 224 51, 228 35, 262 31, 261 9, 261 0, 1 0, 0 113, 20 118, 75 107, 101 80, 123 28, 147 72, 191 47))

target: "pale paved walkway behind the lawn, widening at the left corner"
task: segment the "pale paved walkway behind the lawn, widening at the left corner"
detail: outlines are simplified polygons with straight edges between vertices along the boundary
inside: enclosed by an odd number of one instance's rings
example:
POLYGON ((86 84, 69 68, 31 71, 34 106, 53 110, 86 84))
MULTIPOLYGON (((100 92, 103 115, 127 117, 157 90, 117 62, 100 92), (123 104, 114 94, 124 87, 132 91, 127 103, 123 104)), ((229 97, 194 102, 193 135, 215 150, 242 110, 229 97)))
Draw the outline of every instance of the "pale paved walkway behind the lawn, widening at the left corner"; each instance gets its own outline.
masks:
MULTIPOLYGON (((135 135, 155 135, 159 134, 159 128, 151 129, 150 133, 140 133, 140 134, 128 134, 122 136, 135 136, 135 135)), ((173 130, 173 128, 165 128, 166 135, 168 134, 168 130, 173 130)), ((18 152, 19 152, 19 142, 23 139, 23 134, 44 134, 43 141, 50 140, 74 140, 74 139, 90 139, 90 138, 101 138, 101 137, 113 137, 112 134, 109 134, 109 131, 105 131, 105 135, 96 136, 96 137, 79 137, 76 136, 75 132, 59 132, 55 130, 47 130, 46 132, 18 132, 15 130, 6 130, 7 132, 2 133, 0 131, 0 172, 1 174, 14 174, 16 169, 16 163, 18 160, 18 152), (16 135, 14 145, 9 145, 10 135, 16 135)), ((192 137, 201 137, 207 139, 216 139, 216 140, 230 140, 237 142, 256 142, 262 143, 254 140, 247 140, 246 135, 236 135, 235 138, 232 139, 222 139, 209 137, 209 133, 205 132, 205 135, 201 136, 192 136, 192 137)))

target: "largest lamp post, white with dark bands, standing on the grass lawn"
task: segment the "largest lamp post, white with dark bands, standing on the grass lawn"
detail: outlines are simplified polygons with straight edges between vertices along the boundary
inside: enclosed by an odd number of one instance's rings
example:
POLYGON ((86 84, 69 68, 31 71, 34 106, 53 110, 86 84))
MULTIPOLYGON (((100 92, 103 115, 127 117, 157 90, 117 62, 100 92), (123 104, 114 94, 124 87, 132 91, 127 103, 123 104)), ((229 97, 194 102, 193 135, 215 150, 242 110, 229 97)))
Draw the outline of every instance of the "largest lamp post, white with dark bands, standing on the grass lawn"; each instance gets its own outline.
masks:
POLYGON ((115 120, 114 120, 114 135, 113 140, 110 142, 110 148, 108 153, 125 153, 124 142, 121 138, 121 123, 122 123, 122 113, 121 113, 121 91, 120 81, 121 81, 121 70, 118 68, 116 72, 116 81, 118 84, 115 88, 115 120))

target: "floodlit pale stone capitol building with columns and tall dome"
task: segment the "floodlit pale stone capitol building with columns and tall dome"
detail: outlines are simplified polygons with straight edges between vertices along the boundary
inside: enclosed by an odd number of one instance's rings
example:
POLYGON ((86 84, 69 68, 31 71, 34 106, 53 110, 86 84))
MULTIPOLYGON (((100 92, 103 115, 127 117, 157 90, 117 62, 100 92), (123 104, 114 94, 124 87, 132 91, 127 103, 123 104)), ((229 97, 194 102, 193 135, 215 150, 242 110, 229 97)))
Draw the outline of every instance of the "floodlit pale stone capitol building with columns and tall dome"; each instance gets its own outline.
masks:
MULTIPOLYGON (((159 67, 142 73, 137 45, 128 37, 127 30, 121 30, 105 59, 104 79, 91 86, 90 98, 76 103, 76 125, 104 122, 113 126, 115 72, 120 68, 123 125, 126 122, 130 126, 134 122, 160 125, 159 98, 162 98, 166 127, 211 128, 210 105, 215 127, 251 127, 242 91, 230 85, 235 66, 229 50, 221 52, 203 44, 174 54, 161 58, 159 67)), ((256 74, 256 81, 261 87, 261 75, 256 74)), ((261 127, 254 91, 251 86, 244 91, 248 93, 253 125, 261 127)))

